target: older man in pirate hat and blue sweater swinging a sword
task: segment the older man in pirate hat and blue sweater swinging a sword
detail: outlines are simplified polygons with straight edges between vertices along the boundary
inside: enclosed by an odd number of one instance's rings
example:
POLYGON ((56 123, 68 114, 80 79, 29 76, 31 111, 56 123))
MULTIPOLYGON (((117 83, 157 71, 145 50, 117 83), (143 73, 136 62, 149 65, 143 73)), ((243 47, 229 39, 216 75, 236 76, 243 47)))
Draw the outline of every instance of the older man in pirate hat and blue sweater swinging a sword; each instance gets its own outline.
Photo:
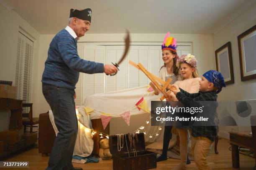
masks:
MULTIPOLYGON (((110 75, 117 72, 114 65, 83 60, 77 53, 77 40, 90 28, 92 10, 70 10, 69 25, 52 39, 42 76, 42 91, 54 115, 59 130, 46 170, 73 170, 72 157, 77 138, 75 85, 79 72, 110 75)), ((47 139, 45 139, 47 140, 47 139)))

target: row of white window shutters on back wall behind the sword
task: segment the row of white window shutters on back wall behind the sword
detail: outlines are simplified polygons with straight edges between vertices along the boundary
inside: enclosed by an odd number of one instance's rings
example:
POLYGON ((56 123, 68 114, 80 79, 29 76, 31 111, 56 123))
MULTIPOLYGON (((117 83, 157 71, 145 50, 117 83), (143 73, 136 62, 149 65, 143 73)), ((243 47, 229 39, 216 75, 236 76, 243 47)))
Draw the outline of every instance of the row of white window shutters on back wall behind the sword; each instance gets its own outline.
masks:
MULTIPOLYGON (((77 50, 81 58, 104 64, 118 62, 124 49, 124 45, 88 45, 84 42, 77 44, 77 50)), ((178 44, 177 53, 179 56, 191 53, 191 45, 178 44)), ((149 80, 146 75, 129 65, 129 60, 136 63, 140 62, 148 71, 157 76, 159 76, 160 67, 164 65, 161 45, 131 45, 127 57, 119 65, 120 71, 117 75, 80 73, 76 85, 76 105, 82 104, 87 95, 147 85, 149 80)))

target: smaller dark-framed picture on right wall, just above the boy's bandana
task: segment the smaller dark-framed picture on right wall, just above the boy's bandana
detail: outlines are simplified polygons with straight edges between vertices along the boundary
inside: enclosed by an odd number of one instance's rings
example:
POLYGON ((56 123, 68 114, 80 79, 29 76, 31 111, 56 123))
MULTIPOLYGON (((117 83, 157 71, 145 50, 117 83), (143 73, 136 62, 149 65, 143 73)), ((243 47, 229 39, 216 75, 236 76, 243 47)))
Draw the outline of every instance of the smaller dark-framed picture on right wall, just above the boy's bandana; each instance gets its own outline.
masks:
POLYGON ((224 44, 222 47, 216 50, 215 57, 217 70, 223 75, 226 85, 233 84, 235 81, 231 42, 224 44))

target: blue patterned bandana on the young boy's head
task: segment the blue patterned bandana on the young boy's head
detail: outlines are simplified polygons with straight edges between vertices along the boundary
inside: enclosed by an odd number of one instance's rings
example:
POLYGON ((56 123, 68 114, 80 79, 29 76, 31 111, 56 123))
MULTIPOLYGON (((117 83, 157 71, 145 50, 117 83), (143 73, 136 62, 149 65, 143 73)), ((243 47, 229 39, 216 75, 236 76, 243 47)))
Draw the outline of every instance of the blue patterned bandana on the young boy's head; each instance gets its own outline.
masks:
POLYGON ((209 81, 212 82, 215 87, 218 87, 216 93, 218 94, 222 87, 226 87, 224 77, 222 74, 215 70, 209 70, 203 74, 203 76, 209 81))

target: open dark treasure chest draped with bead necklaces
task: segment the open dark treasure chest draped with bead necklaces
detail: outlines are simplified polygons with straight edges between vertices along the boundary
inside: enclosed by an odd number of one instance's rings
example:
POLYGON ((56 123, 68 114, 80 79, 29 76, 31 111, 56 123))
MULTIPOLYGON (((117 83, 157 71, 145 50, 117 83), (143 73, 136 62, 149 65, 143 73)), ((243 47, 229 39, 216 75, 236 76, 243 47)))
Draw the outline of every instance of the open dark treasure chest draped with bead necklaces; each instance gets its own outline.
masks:
POLYGON ((156 153, 146 150, 144 133, 111 135, 109 148, 113 155, 113 170, 156 168, 156 153))

